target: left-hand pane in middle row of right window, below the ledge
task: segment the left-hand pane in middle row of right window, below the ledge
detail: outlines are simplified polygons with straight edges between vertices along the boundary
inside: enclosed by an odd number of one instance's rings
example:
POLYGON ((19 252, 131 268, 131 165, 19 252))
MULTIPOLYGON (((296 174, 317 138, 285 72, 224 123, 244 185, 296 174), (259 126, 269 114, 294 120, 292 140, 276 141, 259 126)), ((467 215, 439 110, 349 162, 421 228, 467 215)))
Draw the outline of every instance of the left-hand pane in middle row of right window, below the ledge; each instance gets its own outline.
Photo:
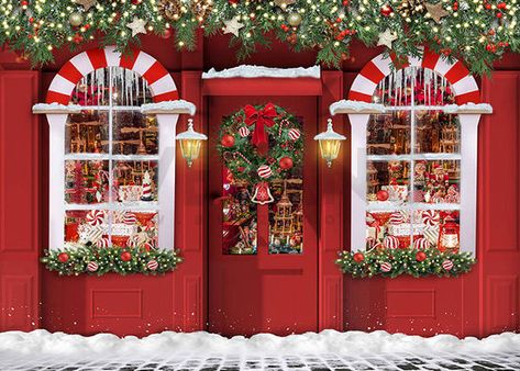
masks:
POLYGON ((368 161, 366 199, 374 205, 408 202, 410 162, 368 161))

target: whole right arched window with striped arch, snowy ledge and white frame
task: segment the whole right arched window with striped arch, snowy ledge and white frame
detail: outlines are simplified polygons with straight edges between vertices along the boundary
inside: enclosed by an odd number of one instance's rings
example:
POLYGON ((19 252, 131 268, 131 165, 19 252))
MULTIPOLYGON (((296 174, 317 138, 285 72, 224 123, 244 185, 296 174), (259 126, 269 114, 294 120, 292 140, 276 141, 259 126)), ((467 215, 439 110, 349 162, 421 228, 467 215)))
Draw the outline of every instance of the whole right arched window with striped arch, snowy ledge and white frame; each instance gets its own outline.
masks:
MULTIPOLYGON (((401 66, 402 67, 402 66, 401 66)), ((353 250, 475 251, 478 87, 429 50, 402 68, 378 56, 331 106, 352 124, 353 250)))

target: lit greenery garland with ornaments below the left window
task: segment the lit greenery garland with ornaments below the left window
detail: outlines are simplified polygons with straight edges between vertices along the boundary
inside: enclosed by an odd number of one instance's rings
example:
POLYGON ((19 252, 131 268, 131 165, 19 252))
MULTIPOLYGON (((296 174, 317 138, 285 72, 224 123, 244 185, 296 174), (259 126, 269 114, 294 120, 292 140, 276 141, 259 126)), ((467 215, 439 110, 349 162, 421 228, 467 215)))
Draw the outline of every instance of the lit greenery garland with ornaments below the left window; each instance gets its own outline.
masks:
POLYGON ((60 276, 103 276, 110 272, 155 276, 175 270, 182 259, 179 251, 174 249, 96 248, 86 244, 77 248, 45 250, 41 261, 48 270, 57 271, 60 276))

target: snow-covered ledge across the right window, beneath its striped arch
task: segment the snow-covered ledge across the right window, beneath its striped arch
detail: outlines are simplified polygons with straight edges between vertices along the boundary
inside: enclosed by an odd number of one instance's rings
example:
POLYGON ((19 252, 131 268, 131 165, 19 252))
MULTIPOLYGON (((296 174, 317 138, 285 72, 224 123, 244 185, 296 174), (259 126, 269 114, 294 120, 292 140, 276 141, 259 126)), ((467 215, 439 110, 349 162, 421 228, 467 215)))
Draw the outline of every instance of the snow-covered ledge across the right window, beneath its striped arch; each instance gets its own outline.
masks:
MULTIPOLYGON (((407 108, 402 108, 407 109, 407 108)), ((447 104, 447 105, 416 105, 414 110, 435 110, 435 111, 444 111, 445 113, 452 114, 490 114, 493 113, 493 106, 488 103, 465 103, 465 104, 447 104)), ((391 109, 386 108, 379 103, 367 103, 361 101, 352 101, 352 100, 341 100, 338 102, 332 103, 329 106, 329 111, 331 115, 335 115, 339 113, 363 113, 363 114, 372 114, 372 113, 385 113, 390 111, 399 110, 399 106, 392 106, 391 109)))

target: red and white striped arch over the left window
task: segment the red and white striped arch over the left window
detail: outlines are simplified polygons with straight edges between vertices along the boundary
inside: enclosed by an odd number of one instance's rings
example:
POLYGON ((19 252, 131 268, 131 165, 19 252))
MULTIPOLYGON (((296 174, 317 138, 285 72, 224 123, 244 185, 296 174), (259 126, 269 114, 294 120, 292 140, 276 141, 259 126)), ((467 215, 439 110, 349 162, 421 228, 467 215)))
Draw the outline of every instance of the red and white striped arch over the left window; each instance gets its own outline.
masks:
POLYGON ((88 74, 104 67, 119 66, 139 74, 148 83, 154 102, 179 99, 174 79, 150 54, 134 50, 122 55, 115 47, 90 49, 68 60, 54 77, 47 91, 47 103, 68 104, 74 88, 88 74))

